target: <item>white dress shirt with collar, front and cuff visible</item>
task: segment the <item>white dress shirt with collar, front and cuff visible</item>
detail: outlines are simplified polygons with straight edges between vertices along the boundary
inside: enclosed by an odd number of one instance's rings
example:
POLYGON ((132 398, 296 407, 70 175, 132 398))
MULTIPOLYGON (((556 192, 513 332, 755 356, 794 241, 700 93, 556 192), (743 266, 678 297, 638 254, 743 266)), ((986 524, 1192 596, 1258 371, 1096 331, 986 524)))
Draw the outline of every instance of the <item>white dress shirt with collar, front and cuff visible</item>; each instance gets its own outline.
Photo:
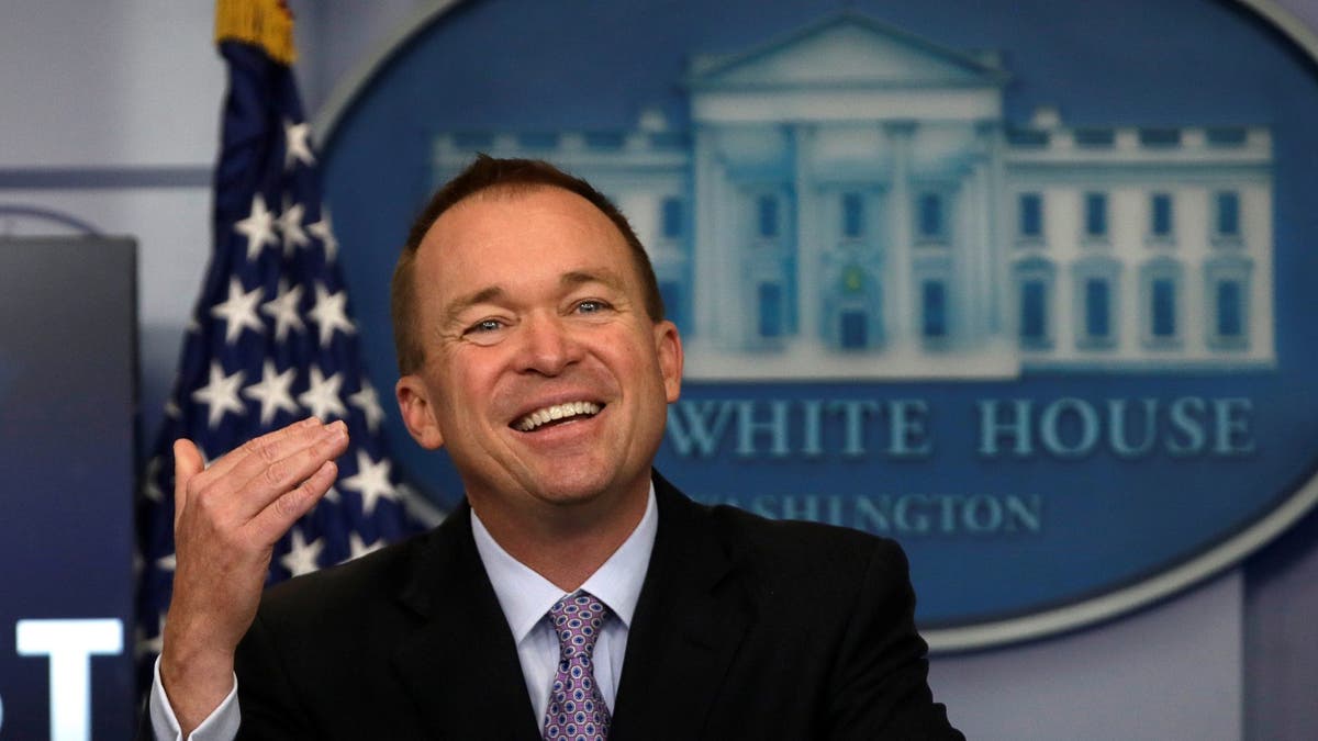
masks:
MULTIPOLYGON (((522 663, 526 691, 531 707, 535 708, 535 717, 540 721, 544 719, 544 708, 550 704, 550 687, 554 684, 554 675, 558 672, 559 665, 559 641, 546 616, 554 603, 564 597, 564 593, 550 580, 510 556, 494 542, 476 513, 471 514, 476 550, 485 566, 485 572, 489 575, 490 584, 494 587, 494 595, 498 597, 500 608, 503 609, 503 617, 513 632, 513 638, 517 641, 517 657, 522 663)), ((604 562, 581 584, 581 589, 594 595, 612 612, 600 630, 593 657, 594 682, 610 711, 618 694, 618 680, 622 678, 622 657, 627 651, 631 617, 637 612, 637 600, 641 597, 641 585, 646 579, 650 551, 654 550, 655 533, 658 531, 659 512, 655 506, 654 484, 651 484, 650 498, 646 501, 646 513, 641 517, 641 523, 609 556, 609 560, 604 562)), ((233 690, 196 726, 196 730, 188 734, 188 741, 232 741, 237 736, 241 723, 237 695, 237 676, 235 676, 233 690)), ((152 683, 150 716, 152 730, 157 741, 183 741, 183 732, 178 725, 174 708, 169 704, 169 696, 165 695, 165 684, 161 683, 158 658, 152 683)))

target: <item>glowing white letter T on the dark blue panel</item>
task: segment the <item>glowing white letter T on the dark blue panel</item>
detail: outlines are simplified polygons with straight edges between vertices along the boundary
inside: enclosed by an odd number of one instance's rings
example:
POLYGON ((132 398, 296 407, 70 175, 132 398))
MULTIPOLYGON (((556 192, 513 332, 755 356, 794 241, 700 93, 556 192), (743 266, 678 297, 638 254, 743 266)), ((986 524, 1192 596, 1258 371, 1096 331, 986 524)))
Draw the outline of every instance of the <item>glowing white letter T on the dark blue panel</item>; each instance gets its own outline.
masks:
POLYGON ((20 657, 50 657, 50 740, 91 738, 91 657, 124 650, 124 624, 98 620, 20 620, 20 657))

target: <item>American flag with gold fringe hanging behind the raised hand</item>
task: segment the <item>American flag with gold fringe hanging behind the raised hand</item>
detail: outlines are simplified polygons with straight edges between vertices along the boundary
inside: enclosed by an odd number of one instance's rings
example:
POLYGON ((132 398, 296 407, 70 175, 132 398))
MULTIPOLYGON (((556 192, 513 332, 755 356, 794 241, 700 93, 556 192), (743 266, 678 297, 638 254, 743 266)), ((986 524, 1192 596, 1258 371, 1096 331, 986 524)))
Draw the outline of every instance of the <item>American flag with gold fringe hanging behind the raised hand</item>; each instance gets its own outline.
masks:
MULTIPOLYGON (((380 548, 420 529, 380 434, 385 411, 361 361, 316 152, 294 83, 291 16, 282 3, 221 1, 282 13, 286 54, 260 33, 217 32, 229 74, 215 169, 214 247, 178 376, 137 505, 138 667, 161 649, 174 576, 171 444, 207 461, 307 415, 344 419, 339 480, 283 537, 268 584, 380 548), (283 57, 282 59, 279 57, 283 57)), ((219 21, 223 26, 223 21, 219 21)))

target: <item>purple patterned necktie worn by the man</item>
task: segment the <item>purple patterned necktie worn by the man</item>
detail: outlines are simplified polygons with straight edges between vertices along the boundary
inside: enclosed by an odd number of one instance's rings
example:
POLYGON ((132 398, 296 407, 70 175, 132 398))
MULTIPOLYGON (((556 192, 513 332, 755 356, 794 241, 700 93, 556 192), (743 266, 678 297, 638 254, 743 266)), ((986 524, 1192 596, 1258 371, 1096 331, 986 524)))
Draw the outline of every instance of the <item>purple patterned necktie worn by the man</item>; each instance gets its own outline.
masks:
POLYGON ((594 641, 609 608, 589 592, 577 592, 550 608, 559 637, 559 671, 544 711, 546 741, 604 741, 609 737, 609 707, 594 683, 594 641))

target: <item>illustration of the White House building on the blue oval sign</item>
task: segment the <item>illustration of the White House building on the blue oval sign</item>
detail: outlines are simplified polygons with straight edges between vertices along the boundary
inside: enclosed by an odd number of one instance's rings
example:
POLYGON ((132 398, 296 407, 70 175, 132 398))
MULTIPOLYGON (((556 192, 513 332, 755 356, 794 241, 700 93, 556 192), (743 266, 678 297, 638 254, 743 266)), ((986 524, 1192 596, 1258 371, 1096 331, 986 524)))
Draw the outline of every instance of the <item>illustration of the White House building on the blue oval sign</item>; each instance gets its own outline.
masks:
POLYGON ((1003 117, 994 54, 844 12, 697 57, 689 128, 447 132, 627 214, 692 378, 1271 367, 1272 136, 1003 117))

